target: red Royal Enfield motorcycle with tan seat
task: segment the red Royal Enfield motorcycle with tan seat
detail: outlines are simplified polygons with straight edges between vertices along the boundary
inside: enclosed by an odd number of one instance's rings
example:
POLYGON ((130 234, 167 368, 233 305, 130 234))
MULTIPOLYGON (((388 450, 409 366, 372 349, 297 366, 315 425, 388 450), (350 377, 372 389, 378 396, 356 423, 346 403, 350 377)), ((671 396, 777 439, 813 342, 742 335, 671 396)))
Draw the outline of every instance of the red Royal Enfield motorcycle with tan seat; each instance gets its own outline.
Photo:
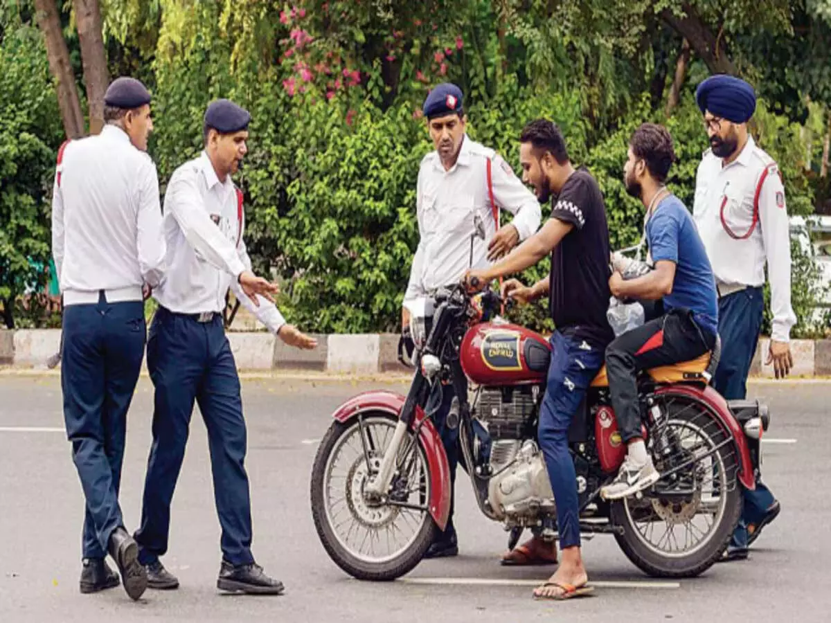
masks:
MULTIPOLYGON (((446 425, 460 429, 461 466, 481 512, 510 532, 509 547, 526 528, 557 537, 536 439, 551 346, 499 316, 503 305, 495 292, 470 295, 462 286, 420 300, 411 310, 416 371, 407 395, 370 391, 335 411, 314 461, 312 516, 348 574, 402 576, 444 529, 450 473, 434 415, 447 385, 456 398, 446 425)), ((757 401, 728 403, 710 386, 718 350, 639 377, 643 434, 661 473, 651 488, 615 502, 600 495, 626 454, 605 368, 569 430, 581 533, 611 534, 650 576, 711 567, 739 520, 739 483, 755 488, 770 415, 757 401)))

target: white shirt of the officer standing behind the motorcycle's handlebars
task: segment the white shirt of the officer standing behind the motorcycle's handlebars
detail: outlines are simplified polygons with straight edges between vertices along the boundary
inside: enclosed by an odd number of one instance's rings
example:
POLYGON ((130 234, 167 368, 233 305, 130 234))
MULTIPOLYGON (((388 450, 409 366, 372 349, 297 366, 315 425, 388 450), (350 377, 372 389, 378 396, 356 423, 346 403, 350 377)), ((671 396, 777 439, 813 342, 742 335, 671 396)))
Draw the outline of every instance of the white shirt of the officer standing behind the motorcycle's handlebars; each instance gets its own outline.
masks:
POLYGON ((512 223, 519 232, 519 240, 529 238, 539 228, 542 209, 537 198, 494 150, 465 135, 459 159, 449 171, 445 171, 438 152, 430 152, 421 160, 418 174, 416 212, 420 241, 405 301, 459 282, 470 267, 475 214, 482 218, 485 239, 475 238, 473 267, 489 265, 488 244, 497 228, 488 193, 488 159, 492 161, 494 200, 500 208, 514 214, 512 223))

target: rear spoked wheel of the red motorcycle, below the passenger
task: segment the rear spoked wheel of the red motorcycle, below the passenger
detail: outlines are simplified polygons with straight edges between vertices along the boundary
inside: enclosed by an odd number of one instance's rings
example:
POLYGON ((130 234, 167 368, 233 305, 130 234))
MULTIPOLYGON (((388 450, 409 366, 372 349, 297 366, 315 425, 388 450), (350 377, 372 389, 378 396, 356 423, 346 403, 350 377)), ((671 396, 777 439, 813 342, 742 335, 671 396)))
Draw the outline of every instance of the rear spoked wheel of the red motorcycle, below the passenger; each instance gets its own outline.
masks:
POLYGON ((656 577, 693 577, 724 552, 741 513, 738 457, 730 435, 705 405, 669 396, 664 428, 650 444, 663 474, 642 498, 612 504, 623 528, 618 545, 656 577))

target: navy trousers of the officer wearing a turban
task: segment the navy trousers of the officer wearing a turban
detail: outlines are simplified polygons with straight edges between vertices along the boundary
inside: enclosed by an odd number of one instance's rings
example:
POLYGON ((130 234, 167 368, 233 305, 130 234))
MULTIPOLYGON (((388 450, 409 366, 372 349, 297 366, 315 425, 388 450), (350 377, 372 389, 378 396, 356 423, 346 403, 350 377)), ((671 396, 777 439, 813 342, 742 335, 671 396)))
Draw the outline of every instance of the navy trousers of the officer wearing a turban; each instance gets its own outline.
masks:
MULTIPOLYGON (((747 376, 762 327, 765 297, 760 287, 749 287, 719 299, 721 359, 713 386, 725 400, 743 400, 747 395, 747 376)), ((747 547, 747 525, 758 523, 774 503, 774 495, 756 478, 754 491, 745 489, 744 508, 733 533, 735 547, 747 547)))

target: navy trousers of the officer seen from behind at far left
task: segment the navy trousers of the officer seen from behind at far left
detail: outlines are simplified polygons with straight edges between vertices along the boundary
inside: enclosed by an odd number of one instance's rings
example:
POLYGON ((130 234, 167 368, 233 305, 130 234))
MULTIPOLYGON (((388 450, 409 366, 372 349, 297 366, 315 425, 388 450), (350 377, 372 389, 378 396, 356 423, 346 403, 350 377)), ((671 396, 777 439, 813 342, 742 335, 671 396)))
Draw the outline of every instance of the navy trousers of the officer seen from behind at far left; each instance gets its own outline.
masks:
POLYGON ((61 389, 66 435, 86 498, 81 543, 85 558, 106 556, 111 532, 123 525, 118 492, 127 410, 145 354, 140 301, 70 305, 63 311, 61 389))

